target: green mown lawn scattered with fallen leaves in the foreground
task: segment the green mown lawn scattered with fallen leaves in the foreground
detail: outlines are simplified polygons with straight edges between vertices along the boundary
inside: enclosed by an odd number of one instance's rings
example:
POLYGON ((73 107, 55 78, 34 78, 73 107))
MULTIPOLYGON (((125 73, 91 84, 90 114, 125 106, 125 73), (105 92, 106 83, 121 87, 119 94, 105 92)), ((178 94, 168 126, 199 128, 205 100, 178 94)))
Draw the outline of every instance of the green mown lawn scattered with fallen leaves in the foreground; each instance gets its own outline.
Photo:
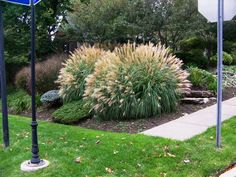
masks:
POLYGON ((223 126, 221 150, 215 148, 214 128, 178 142, 40 121, 40 155, 51 164, 33 174, 23 173, 20 164, 31 156, 29 123, 27 118, 10 116, 11 147, 0 147, 1 177, 201 177, 214 175, 236 161, 236 118, 223 126), (76 157, 81 157, 81 163, 74 162, 76 157), (190 163, 185 164, 184 160, 190 163))

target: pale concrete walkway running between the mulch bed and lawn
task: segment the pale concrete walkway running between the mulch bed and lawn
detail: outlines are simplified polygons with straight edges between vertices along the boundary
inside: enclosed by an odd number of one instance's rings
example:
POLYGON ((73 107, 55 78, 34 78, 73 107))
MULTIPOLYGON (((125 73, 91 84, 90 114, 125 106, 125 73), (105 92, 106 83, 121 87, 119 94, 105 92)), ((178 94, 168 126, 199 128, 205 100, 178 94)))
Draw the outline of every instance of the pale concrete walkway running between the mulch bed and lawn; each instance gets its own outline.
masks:
MULTIPOLYGON (((183 116, 166 124, 142 132, 142 134, 184 141, 205 132, 216 125, 217 106, 213 105, 183 116)), ((223 102, 222 121, 236 115, 236 97, 223 102)))

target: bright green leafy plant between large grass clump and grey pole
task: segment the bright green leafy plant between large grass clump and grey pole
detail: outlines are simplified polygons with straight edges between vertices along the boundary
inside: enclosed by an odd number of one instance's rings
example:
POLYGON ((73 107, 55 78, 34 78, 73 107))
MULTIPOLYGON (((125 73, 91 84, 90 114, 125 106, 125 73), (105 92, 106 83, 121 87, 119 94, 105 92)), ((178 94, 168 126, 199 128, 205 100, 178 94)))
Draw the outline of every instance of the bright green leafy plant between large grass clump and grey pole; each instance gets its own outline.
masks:
POLYGON ((190 67, 188 69, 190 76, 189 80, 192 82, 193 86, 201 87, 216 93, 217 91, 217 78, 208 71, 190 67))

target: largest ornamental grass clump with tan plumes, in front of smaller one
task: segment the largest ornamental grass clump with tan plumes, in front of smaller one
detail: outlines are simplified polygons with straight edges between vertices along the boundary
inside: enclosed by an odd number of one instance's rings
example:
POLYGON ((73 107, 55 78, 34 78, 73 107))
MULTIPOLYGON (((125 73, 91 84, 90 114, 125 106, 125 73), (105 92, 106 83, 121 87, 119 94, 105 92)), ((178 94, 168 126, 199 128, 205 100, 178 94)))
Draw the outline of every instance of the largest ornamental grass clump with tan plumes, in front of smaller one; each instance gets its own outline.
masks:
POLYGON ((86 78, 85 99, 101 119, 137 119, 176 109, 191 86, 168 48, 127 44, 108 52, 86 78))

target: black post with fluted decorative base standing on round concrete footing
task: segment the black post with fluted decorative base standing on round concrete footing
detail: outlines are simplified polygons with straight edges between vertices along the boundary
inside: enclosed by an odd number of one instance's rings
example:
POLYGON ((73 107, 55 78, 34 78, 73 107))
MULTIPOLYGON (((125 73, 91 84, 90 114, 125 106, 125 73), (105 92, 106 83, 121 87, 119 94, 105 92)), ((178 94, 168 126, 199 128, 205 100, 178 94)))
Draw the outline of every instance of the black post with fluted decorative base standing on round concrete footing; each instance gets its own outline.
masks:
POLYGON ((31 93, 32 93, 32 164, 39 164, 40 158, 38 155, 38 135, 37 127, 38 123, 36 120, 36 104, 35 104, 35 6, 34 1, 31 0, 31 93))

